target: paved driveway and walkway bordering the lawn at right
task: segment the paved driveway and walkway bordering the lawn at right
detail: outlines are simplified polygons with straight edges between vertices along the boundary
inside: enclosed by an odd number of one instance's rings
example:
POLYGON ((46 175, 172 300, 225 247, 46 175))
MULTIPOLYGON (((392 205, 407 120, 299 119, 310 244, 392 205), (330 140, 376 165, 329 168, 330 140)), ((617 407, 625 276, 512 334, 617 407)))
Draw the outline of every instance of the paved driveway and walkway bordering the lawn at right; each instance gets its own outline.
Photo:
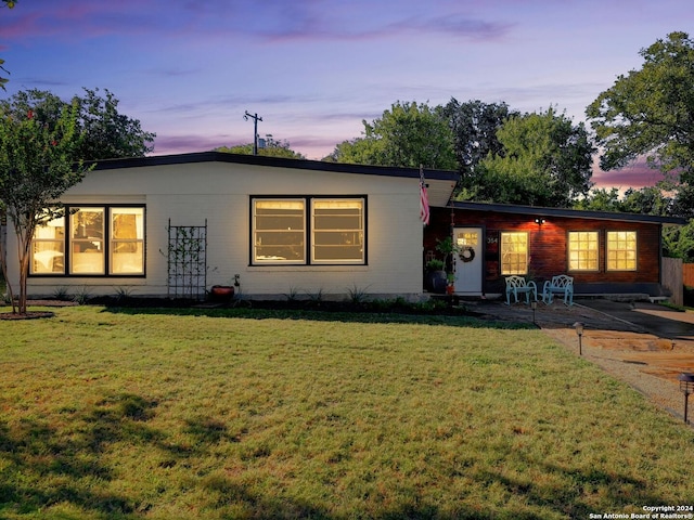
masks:
MULTIPOLYGON (((528 306, 501 300, 466 302, 488 317, 534 322, 528 306)), ((579 342, 574 324, 582 322, 582 358, 625 380, 655 405, 682 419, 684 396, 678 376, 694 373, 694 312, 679 312, 648 302, 577 299, 571 307, 539 302, 535 323, 576 355, 579 342)), ((694 399, 690 400, 690 418, 694 399)))

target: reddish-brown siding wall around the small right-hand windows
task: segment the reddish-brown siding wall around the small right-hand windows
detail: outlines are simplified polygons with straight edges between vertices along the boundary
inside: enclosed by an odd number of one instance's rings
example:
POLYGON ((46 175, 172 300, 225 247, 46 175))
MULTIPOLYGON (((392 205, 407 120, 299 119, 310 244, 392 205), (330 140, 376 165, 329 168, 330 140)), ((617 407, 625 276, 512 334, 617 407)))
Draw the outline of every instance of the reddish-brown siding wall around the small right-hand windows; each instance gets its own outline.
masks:
MULTIPOLYGON (((545 217, 542 225, 535 222, 535 214, 494 211, 471 211, 450 208, 432 208, 430 224, 424 233, 424 252, 436 251, 438 239, 450 234, 452 226, 480 226, 486 235, 498 236, 504 231, 523 231, 529 234, 529 275, 540 283, 556 274, 574 276, 577 291, 600 291, 600 286, 620 286, 625 291, 639 291, 660 282, 660 224, 612 220, 545 217), (568 271, 568 233, 595 231, 600 240, 600 265, 595 272, 568 271), (607 271, 607 231, 637 232, 637 270, 607 271)), ((437 253, 438 257, 440 255, 437 253)), ((486 262, 489 262, 488 257, 486 262)), ((503 278, 494 270, 485 268, 485 291, 496 292, 503 287, 503 278)), ((645 289, 644 289, 645 290, 645 289)))

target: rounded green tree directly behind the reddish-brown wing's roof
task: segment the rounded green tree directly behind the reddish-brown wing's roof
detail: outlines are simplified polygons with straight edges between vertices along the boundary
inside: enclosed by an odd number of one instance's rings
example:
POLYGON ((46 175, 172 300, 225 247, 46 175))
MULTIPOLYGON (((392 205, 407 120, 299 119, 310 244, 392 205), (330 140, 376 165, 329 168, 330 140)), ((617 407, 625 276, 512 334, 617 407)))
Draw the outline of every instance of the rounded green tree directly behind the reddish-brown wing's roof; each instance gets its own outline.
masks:
POLYGON ((477 183, 464 194, 494 203, 569 207, 591 187, 595 152, 583 123, 574 126, 549 108, 505 120, 497 132, 503 146, 488 154, 477 183))

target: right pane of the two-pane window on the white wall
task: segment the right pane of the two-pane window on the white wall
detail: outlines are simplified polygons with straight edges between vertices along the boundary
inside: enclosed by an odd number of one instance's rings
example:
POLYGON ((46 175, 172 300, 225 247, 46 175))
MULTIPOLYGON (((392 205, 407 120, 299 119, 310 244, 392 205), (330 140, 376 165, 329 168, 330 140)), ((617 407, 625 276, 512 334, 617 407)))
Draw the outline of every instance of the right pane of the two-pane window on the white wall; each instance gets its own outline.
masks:
POLYGON ((313 208, 312 261, 364 261, 363 199, 317 199, 313 208))

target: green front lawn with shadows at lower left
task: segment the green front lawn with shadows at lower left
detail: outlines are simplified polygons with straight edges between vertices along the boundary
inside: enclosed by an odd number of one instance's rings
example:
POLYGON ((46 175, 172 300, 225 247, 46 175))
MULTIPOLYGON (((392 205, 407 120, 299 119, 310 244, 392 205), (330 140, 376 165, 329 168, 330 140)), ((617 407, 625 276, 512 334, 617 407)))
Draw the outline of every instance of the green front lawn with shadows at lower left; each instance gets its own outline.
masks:
POLYGON ((694 503, 694 432, 539 330, 201 312, 0 321, 0 518, 558 519, 694 503))

